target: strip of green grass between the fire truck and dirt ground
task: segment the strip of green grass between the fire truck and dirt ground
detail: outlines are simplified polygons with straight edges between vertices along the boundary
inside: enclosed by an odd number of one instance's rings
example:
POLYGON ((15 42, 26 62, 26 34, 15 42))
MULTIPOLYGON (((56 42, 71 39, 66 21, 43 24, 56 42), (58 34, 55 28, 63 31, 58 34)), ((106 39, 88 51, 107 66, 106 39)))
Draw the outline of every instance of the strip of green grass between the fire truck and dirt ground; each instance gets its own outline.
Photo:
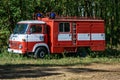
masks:
POLYGON ((19 54, 12 54, 3 52, 0 53, 0 65, 15 65, 15 64, 35 64, 40 66, 74 66, 74 65, 90 65, 92 63, 114 64, 119 63, 120 58, 97 57, 86 58, 80 57, 65 57, 52 59, 34 59, 20 56, 19 54))

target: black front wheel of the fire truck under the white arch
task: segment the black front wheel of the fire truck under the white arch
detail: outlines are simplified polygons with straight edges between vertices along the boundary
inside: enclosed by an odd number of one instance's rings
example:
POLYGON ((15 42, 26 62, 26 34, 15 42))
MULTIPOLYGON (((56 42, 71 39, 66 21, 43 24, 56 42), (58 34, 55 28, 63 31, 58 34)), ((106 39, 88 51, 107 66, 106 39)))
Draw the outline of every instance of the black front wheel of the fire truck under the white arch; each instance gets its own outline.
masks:
POLYGON ((44 47, 39 47, 36 49, 34 56, 35 58, 45 58, 46 54, 47 50, 44 47))

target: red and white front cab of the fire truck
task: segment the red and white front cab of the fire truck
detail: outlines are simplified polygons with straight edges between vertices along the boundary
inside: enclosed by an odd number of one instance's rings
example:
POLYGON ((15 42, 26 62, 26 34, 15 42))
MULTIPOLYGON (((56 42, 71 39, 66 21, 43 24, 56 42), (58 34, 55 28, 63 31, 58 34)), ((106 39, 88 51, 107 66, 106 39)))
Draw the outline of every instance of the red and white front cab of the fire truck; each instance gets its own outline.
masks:
MULTIPOLYGON (((17 23, 13 34, 9 38, 9 52, 27 54, 30 52, 39 52, 39 49, 45 53, 50 52, 47 39, 47 28, 44 21, 28 20, 17 23)), ((36 53, 35 56, 38 54, 36 53)), ((40 57, 44 57, 42 52, 40 57)))

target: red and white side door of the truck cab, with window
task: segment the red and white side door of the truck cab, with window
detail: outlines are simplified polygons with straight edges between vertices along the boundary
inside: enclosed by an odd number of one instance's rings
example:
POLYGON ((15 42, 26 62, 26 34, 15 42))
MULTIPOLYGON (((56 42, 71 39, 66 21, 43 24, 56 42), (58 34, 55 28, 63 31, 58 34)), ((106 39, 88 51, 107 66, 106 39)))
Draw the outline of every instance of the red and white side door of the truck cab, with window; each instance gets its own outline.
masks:
POLYGON ((31 24, 29 27, 29 34, 27 37, 28 51, 32 52, 34 46, 38 43, 44 42, 43 24, 31 24))

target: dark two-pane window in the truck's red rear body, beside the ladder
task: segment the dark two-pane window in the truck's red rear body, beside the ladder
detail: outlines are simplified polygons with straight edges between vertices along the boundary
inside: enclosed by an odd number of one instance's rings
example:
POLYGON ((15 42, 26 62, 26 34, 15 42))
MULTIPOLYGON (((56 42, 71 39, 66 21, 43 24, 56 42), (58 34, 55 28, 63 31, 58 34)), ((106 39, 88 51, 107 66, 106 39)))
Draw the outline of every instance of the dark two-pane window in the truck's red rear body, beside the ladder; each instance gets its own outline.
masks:
POLYGON ((59 23, 59 32, 70 32, 70 23, 59 23))

